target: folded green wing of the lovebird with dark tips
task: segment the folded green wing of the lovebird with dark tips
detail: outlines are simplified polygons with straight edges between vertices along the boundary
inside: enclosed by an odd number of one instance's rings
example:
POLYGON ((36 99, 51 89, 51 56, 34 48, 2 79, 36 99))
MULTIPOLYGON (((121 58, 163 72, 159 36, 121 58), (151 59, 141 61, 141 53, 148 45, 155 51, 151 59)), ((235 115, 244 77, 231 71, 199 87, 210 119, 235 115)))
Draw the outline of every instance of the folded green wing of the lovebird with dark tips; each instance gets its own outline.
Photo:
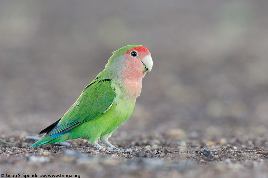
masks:
POLYGON ((47 134, 44 136, 50 136, 60 132, 63 133, 106 112, 112 106, 116 97, 110 82, 111 79, 100 80, 97 77, 83 90, 80 97, 65 115, 52 124, 53 127, 51 125, 49 130, 48 127, 39 134, 46 132, 47 134))

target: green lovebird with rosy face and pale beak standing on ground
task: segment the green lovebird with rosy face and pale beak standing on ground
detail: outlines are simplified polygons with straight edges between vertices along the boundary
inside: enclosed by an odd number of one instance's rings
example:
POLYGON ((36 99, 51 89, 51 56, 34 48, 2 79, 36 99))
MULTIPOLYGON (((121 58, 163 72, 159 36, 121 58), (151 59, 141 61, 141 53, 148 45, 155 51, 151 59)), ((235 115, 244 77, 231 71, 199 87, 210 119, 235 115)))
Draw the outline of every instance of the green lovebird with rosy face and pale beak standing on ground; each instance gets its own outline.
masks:
POLYGON ((39 133, 43 137, 31 147, 82 138, 100 150, 100 138, 108 150, 118 150, 108 139, 130 117, 141 93, 141 80, 152 65, 151 53, 144 46, 128 45, 113 52, 105 69, 63 117, 39 133))

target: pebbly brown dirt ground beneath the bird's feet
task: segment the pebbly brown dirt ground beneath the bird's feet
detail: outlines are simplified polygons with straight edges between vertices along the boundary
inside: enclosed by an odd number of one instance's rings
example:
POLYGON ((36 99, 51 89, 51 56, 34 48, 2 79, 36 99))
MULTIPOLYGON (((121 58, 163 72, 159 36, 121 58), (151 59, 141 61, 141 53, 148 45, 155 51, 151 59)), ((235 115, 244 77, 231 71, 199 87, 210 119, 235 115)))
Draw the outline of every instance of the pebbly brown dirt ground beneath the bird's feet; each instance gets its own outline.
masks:
POLYGON ((267 177, 268 140, 243 137, 200 142, 197 132, 181 129, 167 134, 138 134, 113 138, 119 148, 132 152, 94 149, 87 140, 71 146, 55 144, 29 148, 27 136, 0 142, 1 174, 66 174, 81 177, 267 177), (176 138, 180 138, 179 140, 176 138), (116 141, 120 140, 122 141, 116 141))

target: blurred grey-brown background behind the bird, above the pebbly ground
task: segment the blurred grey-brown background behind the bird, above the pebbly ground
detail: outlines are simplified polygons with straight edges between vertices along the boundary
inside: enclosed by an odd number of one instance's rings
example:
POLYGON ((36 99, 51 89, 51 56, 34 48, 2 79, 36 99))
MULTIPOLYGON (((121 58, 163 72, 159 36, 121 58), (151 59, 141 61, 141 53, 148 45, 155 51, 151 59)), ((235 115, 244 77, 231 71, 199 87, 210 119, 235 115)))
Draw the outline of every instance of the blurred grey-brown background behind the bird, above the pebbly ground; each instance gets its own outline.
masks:
POLYGON ((36 135, 112 51, 136 44, 154 65, 113 136, 268 136, 267 9, 267 0, 1 1, 0 134, 36 135))

